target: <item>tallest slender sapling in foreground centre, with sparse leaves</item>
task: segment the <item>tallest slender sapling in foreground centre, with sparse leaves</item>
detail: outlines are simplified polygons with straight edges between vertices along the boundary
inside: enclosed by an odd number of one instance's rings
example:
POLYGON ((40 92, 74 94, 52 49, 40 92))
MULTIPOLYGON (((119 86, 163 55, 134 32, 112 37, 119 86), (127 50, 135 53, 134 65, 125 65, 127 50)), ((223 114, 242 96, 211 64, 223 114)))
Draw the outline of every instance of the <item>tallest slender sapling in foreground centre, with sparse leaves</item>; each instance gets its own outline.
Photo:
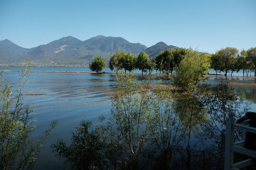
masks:
MULTIPOLYGON (((142 88, 133 75, 117 74, 118 88, 111 97, 110 124, 115 129, 114 140, 124 148, 124 166, 138 169, 139 157, 146 140, 145 114, 148 111, 148 83, 142 88), (146 87, 145 87, 146 86, 146 87), (128 154, 128 155, 127 155, 128 154)), ((111 130, 113 131, 113 130, 111 130)))

